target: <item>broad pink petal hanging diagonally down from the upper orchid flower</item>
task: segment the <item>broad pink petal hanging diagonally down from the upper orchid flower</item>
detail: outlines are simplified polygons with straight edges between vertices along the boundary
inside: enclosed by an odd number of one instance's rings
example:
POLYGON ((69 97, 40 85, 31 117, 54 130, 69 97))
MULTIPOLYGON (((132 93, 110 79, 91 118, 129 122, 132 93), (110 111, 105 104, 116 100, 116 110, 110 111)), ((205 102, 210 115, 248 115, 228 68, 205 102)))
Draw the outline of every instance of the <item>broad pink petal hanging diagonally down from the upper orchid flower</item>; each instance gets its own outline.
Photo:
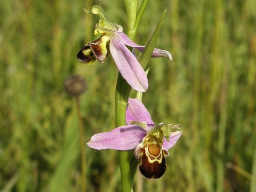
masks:
POLYGON ((145 71, 119 37, 110 41, 110 52, 118 70, 132 89, 145 92, 148 89, 145 71))

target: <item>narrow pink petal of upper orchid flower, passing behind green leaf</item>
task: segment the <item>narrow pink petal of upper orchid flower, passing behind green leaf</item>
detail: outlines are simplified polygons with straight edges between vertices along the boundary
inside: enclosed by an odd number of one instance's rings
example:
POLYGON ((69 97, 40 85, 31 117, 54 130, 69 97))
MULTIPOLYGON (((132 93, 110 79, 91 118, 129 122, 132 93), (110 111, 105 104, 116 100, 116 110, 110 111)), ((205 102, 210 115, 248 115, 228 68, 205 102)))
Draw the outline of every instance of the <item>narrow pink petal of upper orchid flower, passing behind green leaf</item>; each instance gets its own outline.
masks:
MULTIPOLYGON (((129 37, 127 37, 127 35, 124 34, 123 32, 117 32, 117 35, 118 35, 118 37, 121 38, 121 40, 124 42, 124 44, 126 44, 130 47, 134 47, 135 49, 139 50, 140 52, 143 52, 143 50, 145 49, 145 46, 137 45, 132 40, 130 40, 129 37)), ((166 57, 166 58, 172 60, 171 53, 166 50, 161 50, 161 49, 154 49, 151 57, 154 57, 154 58, 155 57, 166 57)))

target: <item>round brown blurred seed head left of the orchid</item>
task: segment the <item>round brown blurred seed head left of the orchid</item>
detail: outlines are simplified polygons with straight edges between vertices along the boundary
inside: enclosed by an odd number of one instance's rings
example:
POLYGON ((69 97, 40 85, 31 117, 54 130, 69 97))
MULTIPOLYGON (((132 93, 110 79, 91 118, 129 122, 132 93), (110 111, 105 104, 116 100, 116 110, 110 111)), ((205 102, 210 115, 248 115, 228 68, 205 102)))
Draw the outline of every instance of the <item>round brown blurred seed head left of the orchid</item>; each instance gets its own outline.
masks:
POLYGON ((86 90, 86 80, 79 75, 70 75, 64 83, 65 91, 68 95, 78 97, 86 90))

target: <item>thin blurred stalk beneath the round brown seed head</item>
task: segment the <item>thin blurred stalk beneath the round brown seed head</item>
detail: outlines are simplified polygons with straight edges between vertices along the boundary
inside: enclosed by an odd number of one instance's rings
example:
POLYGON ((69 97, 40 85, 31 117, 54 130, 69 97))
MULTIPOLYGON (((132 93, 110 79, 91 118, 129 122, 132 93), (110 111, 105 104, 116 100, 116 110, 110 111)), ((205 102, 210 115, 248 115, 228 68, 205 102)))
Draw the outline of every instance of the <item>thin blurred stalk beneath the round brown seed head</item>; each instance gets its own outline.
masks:
POLYGON ((84 142, 84 125, 81 117, 79 97, 75 97, 75 103, 77 105, 77 115, 79 118, 79 129, 80 129, 80 147, 81 147, 81 192, 86 192, 86 154, 85 154, 85 142, 84 142))

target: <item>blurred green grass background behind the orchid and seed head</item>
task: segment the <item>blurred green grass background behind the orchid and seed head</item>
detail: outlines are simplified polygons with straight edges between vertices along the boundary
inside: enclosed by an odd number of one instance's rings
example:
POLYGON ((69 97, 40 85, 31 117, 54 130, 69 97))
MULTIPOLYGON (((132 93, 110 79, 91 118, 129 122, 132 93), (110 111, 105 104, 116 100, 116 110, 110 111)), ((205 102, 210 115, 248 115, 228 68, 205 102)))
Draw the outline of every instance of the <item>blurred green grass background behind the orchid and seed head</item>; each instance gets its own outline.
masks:
MULTIPOLYGON (((140 4, 141 1, 138 1, 140 4)), ((80 64, 95 40, 101 6, 126 32, 123 1, 0 1, 0 191, 81 191, 78 117, 65 78, 87 80, 86 140, 115 127, 117 69, 80 64)), ((139 6, 138 6, 139 7, 139 6)), ((145 45, 167 9, 157 42, 173 61, 150 60, 143 102, 155 123, 183 124, 157 180, 136 174, 134 191, 256 192, 256 3, 149 1, 136 36, 145 45)), ((118 152, 86 146, 87 191, 120 191, 118 152)))

